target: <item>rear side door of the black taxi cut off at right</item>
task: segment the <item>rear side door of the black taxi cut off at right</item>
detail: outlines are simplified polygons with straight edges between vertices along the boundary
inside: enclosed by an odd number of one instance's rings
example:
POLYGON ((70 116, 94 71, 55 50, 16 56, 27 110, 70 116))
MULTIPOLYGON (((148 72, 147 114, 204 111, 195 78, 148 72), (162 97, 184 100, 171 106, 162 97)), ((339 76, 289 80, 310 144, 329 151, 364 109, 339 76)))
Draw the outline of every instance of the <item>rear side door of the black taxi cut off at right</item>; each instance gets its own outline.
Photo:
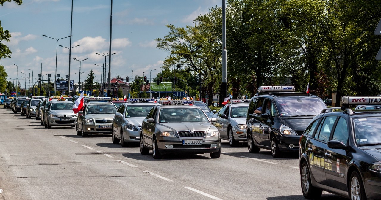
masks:
POLYGON ((309 154, 309 162, 311 168, 311 175, 314 179, 324 185, 328 185, 328 181, 325 178, 325 149, 327 148, 327 142, 335 124, 337 116, 324 117, 318 126, 318 129, 314 137, 307 142, 309 154))

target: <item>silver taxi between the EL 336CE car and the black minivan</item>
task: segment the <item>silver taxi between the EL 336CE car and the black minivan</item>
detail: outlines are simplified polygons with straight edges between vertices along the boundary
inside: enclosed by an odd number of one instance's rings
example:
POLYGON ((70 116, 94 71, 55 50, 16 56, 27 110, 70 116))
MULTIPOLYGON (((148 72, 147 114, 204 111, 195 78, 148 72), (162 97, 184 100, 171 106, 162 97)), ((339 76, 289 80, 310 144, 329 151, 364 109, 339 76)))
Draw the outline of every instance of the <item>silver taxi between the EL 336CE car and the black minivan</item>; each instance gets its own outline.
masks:
POLYGON ((232 99, 213 116, 217 121, 213 125, 219 131, 221 139, 228 140, 230 146, 238 146, 239 141, 246 141, 246 117, 249 99, 232 99))

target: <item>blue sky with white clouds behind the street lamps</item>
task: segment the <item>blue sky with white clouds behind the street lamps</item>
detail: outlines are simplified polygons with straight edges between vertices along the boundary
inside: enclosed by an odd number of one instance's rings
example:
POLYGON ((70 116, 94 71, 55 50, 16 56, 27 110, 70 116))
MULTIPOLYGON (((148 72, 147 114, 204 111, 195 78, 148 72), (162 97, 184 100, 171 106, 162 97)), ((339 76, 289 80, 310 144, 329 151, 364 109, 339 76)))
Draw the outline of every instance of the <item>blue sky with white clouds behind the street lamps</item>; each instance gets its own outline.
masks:
MULTIPOLYGON (((0 6, 1 25, 11 34, 10 42, 2 41, 11 50, 11 58, 0 60, 9 81, 16 79, 18 71, 19 82, 24 84, 26 80, 28 84, 29 73, 32 80, 31 70, 33 79, 37 79, 41 66, 42 75, 51 74, 53 79, 56 53, 57 74, 64 78, 69 74, 70 38, 64 37, 70 35, 71 3, 70 0, 24 0, 22 5, 5 2, 0 6), (67 48, 58 46, 56 52, 57 41, 42 35, 64 38, 58 40, 58 45, 67 48)), ((156 77, 162 71, 163 60, 169 55, 156 48, 155 41, 168 35, 169 29, 165 25, 193 25, 197 16, 221 5, 222 0, 113 0, 111 54, 115 54, 111 55, 111 77, 131 78, 143 76, 143 72, 147 78, 156 77)), ((95 80, 101 81, 100 66, 105 61, 103 53, 109 53, 110 7, 111 0, 74 0, 71 80, 78 82, 78 74, 81 73, 83 82, 93 70, 95 80), (80 61, 88 59, 79 62, 73 58, 80 61)), ((107 65, 109 57, 106 57, 107 65)), ((47 77, 43 76, 44 79, 47 77)), ((14 82, 16 84, 16 80, 14 82)))

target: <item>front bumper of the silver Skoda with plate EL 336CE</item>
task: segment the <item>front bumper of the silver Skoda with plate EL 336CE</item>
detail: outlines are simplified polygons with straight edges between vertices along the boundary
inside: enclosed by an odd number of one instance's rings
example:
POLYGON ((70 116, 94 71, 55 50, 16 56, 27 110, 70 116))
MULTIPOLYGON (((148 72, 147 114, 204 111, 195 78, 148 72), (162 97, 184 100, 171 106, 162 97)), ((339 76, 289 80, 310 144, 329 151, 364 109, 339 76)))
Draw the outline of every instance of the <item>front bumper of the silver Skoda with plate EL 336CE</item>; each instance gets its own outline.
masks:
POLYGON ((220 151, 220 137, 206 138, 178 138, 178 137, 157 137, 157 147, 160 153, 215 153, 220 151), (182 140, 202 140, 201 145, 183 145, 182 140), (173 145, 173 148, 166 148, 165 145, 173 145), (211 148, 211 145, 216 147, 211 148))

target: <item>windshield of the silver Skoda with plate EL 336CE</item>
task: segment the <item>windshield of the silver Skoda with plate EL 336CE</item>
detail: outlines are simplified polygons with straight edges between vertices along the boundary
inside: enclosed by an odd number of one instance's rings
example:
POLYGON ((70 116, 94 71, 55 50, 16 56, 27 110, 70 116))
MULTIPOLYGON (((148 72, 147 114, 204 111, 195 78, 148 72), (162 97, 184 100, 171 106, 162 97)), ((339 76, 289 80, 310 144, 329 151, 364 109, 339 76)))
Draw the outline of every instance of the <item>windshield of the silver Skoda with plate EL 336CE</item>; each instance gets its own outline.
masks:
POLYGON ((208 122, 208 117, 197 108, 165 108, 160 110, 159 122, 208 122))

